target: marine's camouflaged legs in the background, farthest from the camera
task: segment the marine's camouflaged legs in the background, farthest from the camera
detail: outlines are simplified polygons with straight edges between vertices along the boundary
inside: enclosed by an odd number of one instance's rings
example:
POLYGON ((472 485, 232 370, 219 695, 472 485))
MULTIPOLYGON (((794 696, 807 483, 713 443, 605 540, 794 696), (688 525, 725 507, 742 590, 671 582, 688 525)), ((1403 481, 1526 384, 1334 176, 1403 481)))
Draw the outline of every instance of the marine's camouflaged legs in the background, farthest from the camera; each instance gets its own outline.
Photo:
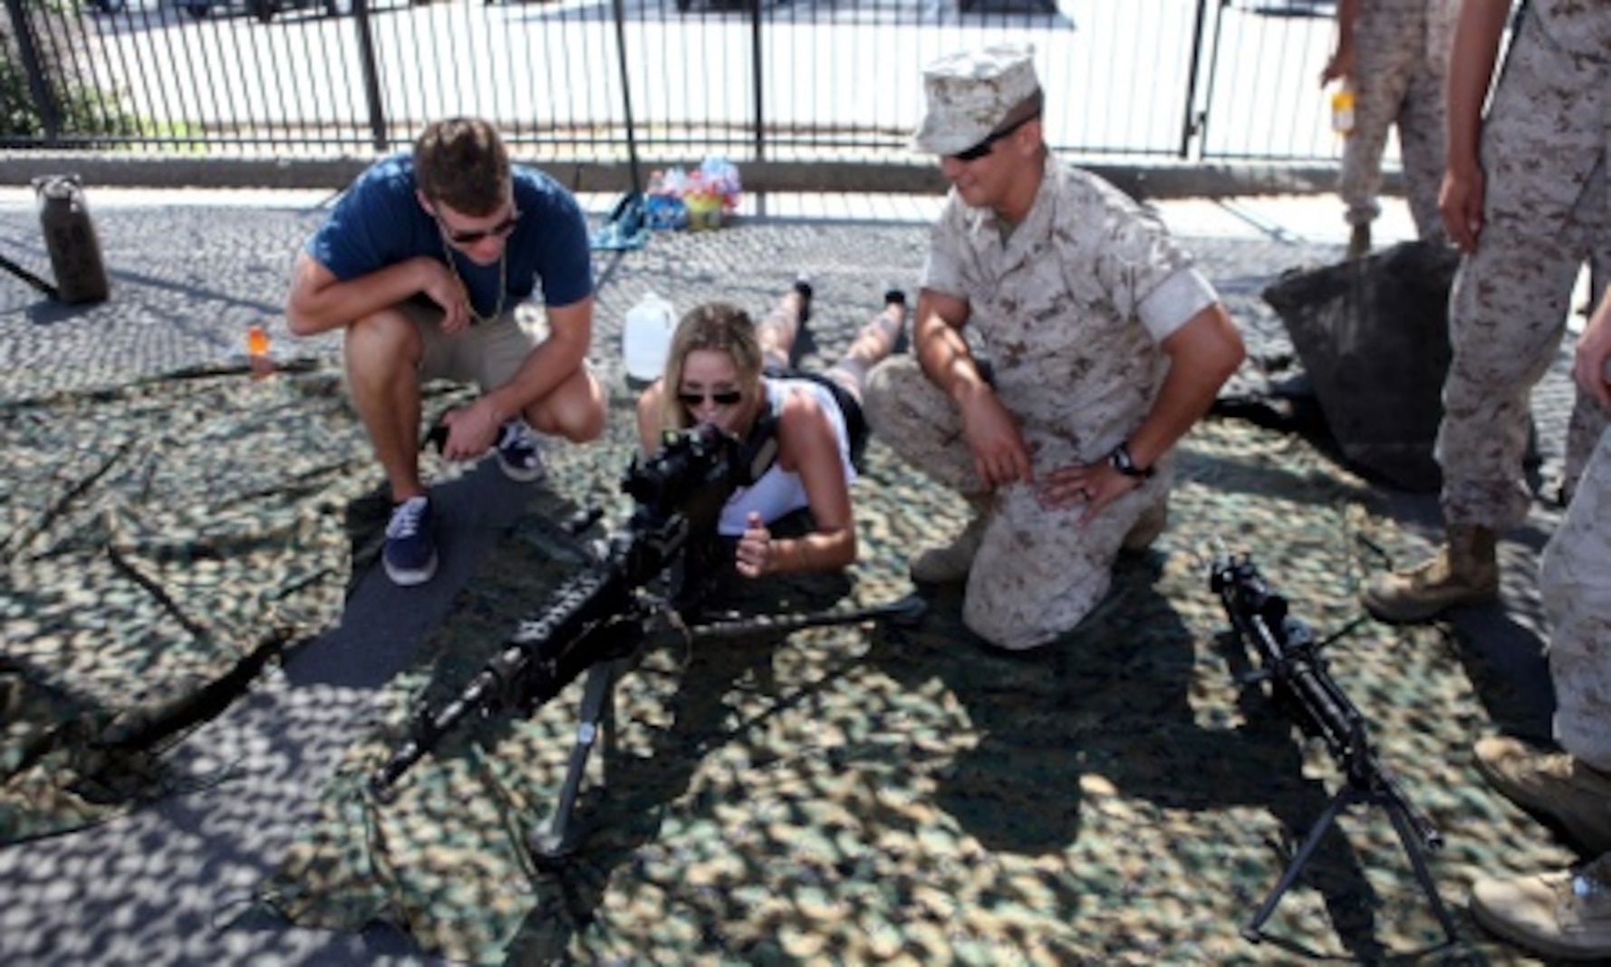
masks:
POLYGON ((1398 127, 1405 193, 1416 235, 1443 242, 1437 190, 1443 182, 1443 85, 1460 0, 1339 0, 1337 50, 1321 87, 1353 87, 1353 132, 1342 145, 1337 193, 1353 226, 1348 256, 1371 250, 1371 222, 1382 213, 1382 151, 1398 127))

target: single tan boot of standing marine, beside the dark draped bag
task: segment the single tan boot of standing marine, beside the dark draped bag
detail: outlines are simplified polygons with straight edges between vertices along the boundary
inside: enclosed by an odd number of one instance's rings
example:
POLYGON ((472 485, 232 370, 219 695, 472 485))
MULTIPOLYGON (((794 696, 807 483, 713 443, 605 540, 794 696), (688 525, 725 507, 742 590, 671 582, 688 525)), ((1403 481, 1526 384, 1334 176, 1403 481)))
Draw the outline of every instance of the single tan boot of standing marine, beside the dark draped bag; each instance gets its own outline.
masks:
POLYGON ((1448 542, 1411 571, 1377 574, 1360 598, 1379 620, 1418 624, 1456 604, 1481 604, 1500 593, 1497 535, 1476 524, 1453 524, 1448 542))

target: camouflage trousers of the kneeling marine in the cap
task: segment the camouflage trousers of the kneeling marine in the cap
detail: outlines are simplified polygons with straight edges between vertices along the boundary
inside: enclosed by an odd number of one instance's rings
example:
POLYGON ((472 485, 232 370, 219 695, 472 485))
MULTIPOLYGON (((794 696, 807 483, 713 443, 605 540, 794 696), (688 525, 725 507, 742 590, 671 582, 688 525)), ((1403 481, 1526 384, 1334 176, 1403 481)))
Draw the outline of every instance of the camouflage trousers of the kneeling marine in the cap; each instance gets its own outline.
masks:
MULTIPOLYGON (((984 538, 968 572, 962 620, 997 648, 1046 645, 1079 624, 1107 595, 1124 535, 1147 508, 1168 498, 1170 461, 1160 461, 1144 487, 1084 527, 1083 506, 1042 506, 1033 485, 983 490, 962 435, 962 413, 910 356, 873 369, 865 405, 875 438, 984 508, 984 538)), ((1037 448, 1036 472, 1057 466, 1042 463, 1041 454, 1068 450, 1066 442, 1036 427, 1025 427, 1025 437, 1037 448)))

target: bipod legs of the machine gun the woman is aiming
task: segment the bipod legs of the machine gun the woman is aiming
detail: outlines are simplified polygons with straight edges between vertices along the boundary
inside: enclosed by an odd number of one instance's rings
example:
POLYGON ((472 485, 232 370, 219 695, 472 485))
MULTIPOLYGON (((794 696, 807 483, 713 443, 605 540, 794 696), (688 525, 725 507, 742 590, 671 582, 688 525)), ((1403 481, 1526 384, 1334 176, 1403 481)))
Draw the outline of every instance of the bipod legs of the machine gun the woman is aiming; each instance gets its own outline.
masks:
MULTIPOLYGON (((872 604, 852 609, 826 609, 793 614, 760 614, 751 617, 723 616, 709 624, 690 625, 688 640, 701 638, 733 638, 756 632, 796 632, 801 629, 822 629, 833 625, 859 624, 863 620, 889 620, 897 627, 912 627, 923 616, 926 604, 917 595, 907 595, 884 604, 872 604)), ((554 817, 545 827, 538 827, 527 835, 525 845, 538 867, 562 862, 575 853, 586 840, 588 828, 577 816, 577 798, 582 793, 582 780, 586 775, 588 759, 599 735, 604 737, 604 772, 598 788, 607 786, 607 764, 615 751, 615 682, 622 672, 632 667, 638 653, 614 658, 594 664, 586 672, 582 691, 582 709, 578 711, 577 743, 570 748, 570 761, 565 766, 565 782, 559 788, 559 803, 554 806, 554 817)))

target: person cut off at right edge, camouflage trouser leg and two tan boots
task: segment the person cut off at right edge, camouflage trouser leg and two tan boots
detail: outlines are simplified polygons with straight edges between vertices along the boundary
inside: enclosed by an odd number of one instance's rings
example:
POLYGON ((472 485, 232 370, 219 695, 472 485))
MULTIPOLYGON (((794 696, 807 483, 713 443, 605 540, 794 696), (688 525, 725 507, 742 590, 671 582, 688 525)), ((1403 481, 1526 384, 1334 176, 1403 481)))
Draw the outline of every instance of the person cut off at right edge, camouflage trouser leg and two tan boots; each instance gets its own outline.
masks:
MULTIPOLYGON (((1611 295, 1577 342, 1572 376, 1611 406, 1611 295)), ((1551 817, 1590 856, 1571 870, 1479 880, 1471 912, 1500 936, 1551 957, 1611 957, 1611 432, 1600 435, 1539 574, 1550 617, 1555 740, 1477 743, 1477 769, 1498 791, 1551 817)))

